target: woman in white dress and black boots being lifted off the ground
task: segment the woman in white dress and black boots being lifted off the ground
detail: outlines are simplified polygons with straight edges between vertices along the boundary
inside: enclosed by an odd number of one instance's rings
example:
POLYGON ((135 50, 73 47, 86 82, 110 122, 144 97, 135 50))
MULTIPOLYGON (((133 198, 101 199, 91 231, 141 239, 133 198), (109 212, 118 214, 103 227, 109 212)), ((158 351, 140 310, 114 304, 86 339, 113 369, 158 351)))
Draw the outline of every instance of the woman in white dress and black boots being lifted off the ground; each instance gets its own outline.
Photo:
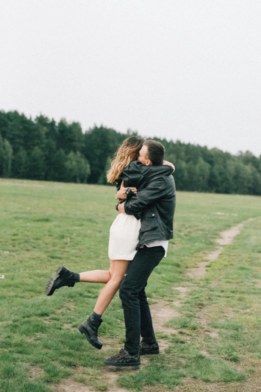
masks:
MULTIPOLYGON (((135 183, 135 177, 131 177, 129 171, 127 171, 126 175, 125 170, 127 170, 130 162, 138 159, 142 144, 143 140, 137 136, 130 136, 125 139, 117 150, 115 159, 111 162, 111 168, 107 172, 108 182, 113 183, 116 181, 117 190, 119 190, 123 179, 125 186, 130 186, 131 184, 132 196, 137 189, 139 190, 145 185, 146 179, 151 178, 155 174, 171 174, 173 167, 149 166, 144 173, 142 183, 135 183)), ((164 164, 170 163, 164 162, 164 164)), ((139 229, 140 220, 138 217, 135 218, 132 215, 118 213, 110 228, 108 247, 110 266, 108 271, 94 270, 78 274, 61 266, 57 268, 56 274, 47 282, 45 288, 46 295, 52 295, 56 289, 62 286, 73 287, 77 282, 105 283, 91 316, 78 326, 78 330, 85 334, 88 342, 97 349, 102 347, 102 343, 97 338, 98 327, 102 322, 101 316, 117 292, 129 261, 133 260, 135 256, 139 229)))

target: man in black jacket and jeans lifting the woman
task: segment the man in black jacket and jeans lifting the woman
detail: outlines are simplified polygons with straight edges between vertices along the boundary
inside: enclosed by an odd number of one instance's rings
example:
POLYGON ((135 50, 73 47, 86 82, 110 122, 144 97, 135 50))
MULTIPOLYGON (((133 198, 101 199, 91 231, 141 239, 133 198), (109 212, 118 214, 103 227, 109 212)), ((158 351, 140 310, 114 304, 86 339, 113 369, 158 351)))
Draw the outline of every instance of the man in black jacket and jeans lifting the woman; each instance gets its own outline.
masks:
MULTIPOLYGON (((163 158, 163 145, 146 140, 138 161, 147 166, 161 165, 163 158)), ((123 199, 125 191, 126 188, 121 188, 117 197, 123 199)), ((145 287, 153 269, 166 256, 168 240, 173 238, 175 184, 172 175, 153 177, 132 198, 118 204, 117 210, 123 214, 139 215, 141 228, 137 253, 129 263, 119 289, 126 329, 124 349, 106 359, 104 364, 138 366, 139 355, 159 353, 145 287)))

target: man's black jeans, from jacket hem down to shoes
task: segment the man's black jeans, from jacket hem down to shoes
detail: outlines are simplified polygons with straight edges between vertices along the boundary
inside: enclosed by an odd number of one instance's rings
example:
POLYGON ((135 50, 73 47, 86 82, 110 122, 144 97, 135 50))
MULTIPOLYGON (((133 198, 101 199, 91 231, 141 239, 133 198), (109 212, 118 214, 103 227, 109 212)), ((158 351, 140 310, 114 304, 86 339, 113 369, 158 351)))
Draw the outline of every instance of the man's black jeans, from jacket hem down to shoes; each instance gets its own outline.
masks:
POLYGON ((142 341, 156 340, 145 287, 149 275, 162 260, 164 253, 162 246, 139 248, 129 263, 119 288, 126 328, 124 349, 133 354, 139 352, 140 335, 142 341))

